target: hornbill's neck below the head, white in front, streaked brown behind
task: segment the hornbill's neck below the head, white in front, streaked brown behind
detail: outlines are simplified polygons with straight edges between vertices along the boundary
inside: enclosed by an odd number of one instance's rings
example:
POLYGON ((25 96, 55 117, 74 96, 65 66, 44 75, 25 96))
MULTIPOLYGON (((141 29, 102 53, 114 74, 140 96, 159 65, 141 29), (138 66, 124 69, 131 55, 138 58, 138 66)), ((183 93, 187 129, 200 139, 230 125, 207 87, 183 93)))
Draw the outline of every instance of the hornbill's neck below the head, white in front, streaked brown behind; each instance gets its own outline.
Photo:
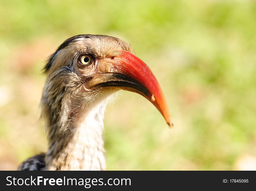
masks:
MULTIPOLYGON (((68 117, 68 125, 50 134, 45 162, 47 170, 105 170, 103 133, 104 111, 108 99, 84 109, 78 107, 68 117)), ((57 123, 60 124, 60 123, 57 123)))

